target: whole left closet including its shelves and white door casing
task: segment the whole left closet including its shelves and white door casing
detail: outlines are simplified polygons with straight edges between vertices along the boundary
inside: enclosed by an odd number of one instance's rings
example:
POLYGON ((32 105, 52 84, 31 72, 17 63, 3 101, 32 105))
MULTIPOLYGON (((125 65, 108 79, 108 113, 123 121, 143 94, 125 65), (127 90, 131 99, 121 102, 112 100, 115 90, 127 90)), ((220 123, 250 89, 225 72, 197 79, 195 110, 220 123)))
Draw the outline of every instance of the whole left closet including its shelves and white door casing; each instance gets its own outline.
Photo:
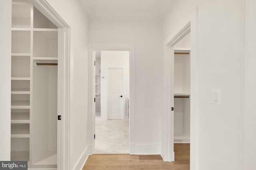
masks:
POLYGON ((10 160, 29 169, 67 167, 69 42, 69 26, 46 0, 12 1, 10 160))

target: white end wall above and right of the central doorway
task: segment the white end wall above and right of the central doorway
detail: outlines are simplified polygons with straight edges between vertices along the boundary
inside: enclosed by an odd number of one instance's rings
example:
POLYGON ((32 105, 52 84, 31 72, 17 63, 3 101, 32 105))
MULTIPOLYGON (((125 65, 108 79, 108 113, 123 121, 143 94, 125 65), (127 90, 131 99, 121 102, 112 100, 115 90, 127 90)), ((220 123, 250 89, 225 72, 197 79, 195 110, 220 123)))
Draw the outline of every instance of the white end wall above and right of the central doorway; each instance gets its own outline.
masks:
POLYGON ((89 43, 135 45, 135 153, 159 154, 164 107, 161 22, 90 20, 89 43))

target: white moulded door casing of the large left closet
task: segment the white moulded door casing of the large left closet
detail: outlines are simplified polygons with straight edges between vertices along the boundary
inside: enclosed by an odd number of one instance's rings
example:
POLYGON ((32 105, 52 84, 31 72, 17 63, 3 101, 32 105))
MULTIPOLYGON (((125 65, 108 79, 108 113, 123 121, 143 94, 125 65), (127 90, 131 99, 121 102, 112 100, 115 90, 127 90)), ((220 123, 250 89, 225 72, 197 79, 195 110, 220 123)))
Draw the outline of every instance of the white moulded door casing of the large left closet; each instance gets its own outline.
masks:
MULTIPOLYGON (((70 160, 70 26, 55 12, 46 0, 30 0, 46 18, 58 27, 58 115, 57 165, 68 170, 70 160)), ((56 117, 57 119, 57 117, 56 117)))

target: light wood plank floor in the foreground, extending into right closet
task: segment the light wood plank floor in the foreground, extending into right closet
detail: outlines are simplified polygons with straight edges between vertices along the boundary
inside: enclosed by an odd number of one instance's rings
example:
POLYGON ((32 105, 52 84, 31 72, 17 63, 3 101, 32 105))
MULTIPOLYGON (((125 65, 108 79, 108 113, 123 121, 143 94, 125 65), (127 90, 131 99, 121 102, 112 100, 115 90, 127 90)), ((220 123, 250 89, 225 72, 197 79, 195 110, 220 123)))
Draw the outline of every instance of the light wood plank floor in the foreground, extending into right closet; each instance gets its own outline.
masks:
POLYGON ((82 170, 189 170, 190 144, 174 144, 175 161, 160 155, 94 154, 82 170))

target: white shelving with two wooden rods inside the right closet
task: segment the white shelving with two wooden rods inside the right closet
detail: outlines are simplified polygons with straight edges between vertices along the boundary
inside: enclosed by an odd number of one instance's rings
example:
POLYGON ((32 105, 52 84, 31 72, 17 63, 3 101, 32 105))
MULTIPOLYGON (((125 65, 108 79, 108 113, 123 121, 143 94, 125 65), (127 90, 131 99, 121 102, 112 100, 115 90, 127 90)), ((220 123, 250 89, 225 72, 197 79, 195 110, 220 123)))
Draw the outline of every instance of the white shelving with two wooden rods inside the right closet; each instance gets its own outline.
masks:
POLYGON ((174 143, 190 143, 190 49, 174 54, 174 143))

